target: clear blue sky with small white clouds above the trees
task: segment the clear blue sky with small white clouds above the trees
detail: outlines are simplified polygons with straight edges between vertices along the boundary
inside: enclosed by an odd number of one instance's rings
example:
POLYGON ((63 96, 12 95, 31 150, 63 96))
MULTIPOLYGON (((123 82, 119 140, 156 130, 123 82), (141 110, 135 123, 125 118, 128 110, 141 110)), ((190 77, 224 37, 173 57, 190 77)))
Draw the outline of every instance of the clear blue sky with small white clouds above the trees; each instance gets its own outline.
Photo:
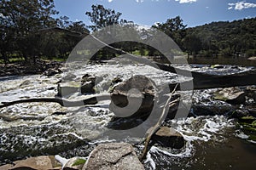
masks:
POLYGON ((121 18, 152 26, 177 15, 185 25, 201 26, 212 21, 256 17, 256 0, 55 0, 60 15, 82 20, 88 26, 86 11, 92 4, 102 4, 122 13, 121 18))

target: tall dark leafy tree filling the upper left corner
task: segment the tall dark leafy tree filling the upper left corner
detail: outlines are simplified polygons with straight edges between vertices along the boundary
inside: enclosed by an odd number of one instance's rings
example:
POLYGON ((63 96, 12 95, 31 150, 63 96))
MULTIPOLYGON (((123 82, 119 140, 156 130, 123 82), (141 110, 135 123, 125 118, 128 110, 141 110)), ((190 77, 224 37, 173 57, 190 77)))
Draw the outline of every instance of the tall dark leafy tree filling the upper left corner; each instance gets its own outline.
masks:
MULTIPOLYGON (((2 36, 3 42, 15 40, 17 51, 28 61, 34 61, 38 52, 37 31, 55 26, 52 15, 58 12, 54 9, 53 0, 2 0, 0 4, 1 29, 11 34, 2 36)), ((11 42, 12 43, 12 42, 11 42)))

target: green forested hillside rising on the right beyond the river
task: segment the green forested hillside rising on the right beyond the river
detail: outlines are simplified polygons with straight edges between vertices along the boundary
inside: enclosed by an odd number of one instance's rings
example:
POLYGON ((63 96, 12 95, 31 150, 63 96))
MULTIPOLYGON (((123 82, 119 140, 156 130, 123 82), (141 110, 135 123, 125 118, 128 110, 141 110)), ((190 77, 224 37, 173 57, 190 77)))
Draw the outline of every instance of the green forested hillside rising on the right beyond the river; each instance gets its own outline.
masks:
POLYGON ((200 48, 201 56, 205 57, 217 55, 223 57, 254 56, 256 54, 255 26, 256 18, 252 18, 232 22, 212 22, 203 26, 188 28, 186 29, 187 37, 183 39, 184 48, 190 53, 200 48), (198 45, 191 48, 186 44, 188 36, 193 35, 198 37, 201 47, 198 45))

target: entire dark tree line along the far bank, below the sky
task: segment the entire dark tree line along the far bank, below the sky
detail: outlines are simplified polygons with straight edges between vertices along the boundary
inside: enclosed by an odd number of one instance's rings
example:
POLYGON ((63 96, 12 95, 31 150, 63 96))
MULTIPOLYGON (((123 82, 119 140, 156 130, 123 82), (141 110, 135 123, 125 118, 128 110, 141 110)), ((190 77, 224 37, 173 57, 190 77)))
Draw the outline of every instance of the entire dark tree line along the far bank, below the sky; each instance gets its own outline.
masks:
MULTIPOLYGON (((92 5, 85 12, 92 23, 73 22, 67 16, 55 18, 54 0, 2 0, 0 3, 0 57, 5 63, 13 56, 35 63, 37 59, 67 58, 75 45, 90 31, 105 26, 119 25, 133 28, 135 37, 154 41, 152 31, 159 29, 177 42, 187 54, 203 57, 255 56, 256 18, 232 22, 212 22, 204 26, 187 28, 177 16, 151 29, 138 29, 132 21, 121 19, 121 13, 102 5, 92 5), (54 28, 54 29, 53 29, 54 28)), ((125 36, 125 35, 123 35, 125 36)), ((154 48, 137 42, 112 44, 129 53, 161 56, 154 48)), ((98 51, 92 59, 109 59, 117 56, 111 48, 98 51)))

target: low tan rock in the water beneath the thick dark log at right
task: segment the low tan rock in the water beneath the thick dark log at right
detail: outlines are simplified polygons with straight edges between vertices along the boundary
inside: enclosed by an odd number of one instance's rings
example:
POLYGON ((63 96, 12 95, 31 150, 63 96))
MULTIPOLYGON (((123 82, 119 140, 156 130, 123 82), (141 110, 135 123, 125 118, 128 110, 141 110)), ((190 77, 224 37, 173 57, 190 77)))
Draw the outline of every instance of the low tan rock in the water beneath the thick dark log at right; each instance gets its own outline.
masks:
POLYGON ((246 93, 239 88, 224 88, 215 92, 214 99, 223 100, 229 104, 243 104, 246 101, 246 93))

